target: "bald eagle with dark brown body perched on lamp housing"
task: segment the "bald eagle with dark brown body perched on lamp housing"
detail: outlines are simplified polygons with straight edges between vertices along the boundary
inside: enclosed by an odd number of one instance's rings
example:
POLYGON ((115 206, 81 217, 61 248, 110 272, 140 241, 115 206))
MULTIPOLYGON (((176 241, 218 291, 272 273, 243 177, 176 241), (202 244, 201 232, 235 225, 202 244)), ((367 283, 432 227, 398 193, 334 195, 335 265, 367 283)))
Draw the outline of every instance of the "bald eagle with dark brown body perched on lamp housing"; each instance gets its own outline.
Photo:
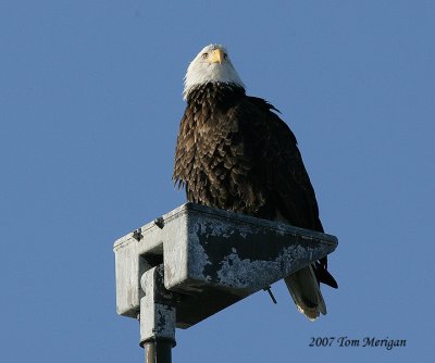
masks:
MULTIPOLYGON (((271 103, 246 95, 223 46, 190 62, 183 96, 173 179, 189 201, 323 231, 295 135, 271 103)), ((320 283, 337 288, 326 258, 285 283, 311 320, 326 314, 320 283)))

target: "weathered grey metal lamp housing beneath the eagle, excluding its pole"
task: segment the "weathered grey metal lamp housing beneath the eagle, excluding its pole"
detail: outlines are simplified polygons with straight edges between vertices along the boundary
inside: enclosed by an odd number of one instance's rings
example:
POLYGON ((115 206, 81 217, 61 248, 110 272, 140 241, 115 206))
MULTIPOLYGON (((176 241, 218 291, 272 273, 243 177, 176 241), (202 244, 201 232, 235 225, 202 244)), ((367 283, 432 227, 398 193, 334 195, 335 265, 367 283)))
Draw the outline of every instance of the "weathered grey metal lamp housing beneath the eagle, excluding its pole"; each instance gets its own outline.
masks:
POLYGON ((165 288, 179 292, 176 325, 186 328, 336 246, 331 235, 186 203, 115 242, 117 312, 137 316, 140 277, 163 263, 165 288))

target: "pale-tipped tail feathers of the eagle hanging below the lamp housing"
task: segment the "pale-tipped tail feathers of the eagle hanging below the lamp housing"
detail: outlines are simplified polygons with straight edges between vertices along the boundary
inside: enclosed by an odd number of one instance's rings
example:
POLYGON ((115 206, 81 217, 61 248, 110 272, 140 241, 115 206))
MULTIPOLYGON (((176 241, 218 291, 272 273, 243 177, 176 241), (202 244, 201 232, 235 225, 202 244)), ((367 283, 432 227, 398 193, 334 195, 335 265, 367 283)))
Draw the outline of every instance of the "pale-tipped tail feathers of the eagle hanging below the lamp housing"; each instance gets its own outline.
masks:
POLYGON ((284 280, 298 310, 308 318, 314 321, 320 313, 326 314, 326 305, 311 265, 287 276, 284 280))

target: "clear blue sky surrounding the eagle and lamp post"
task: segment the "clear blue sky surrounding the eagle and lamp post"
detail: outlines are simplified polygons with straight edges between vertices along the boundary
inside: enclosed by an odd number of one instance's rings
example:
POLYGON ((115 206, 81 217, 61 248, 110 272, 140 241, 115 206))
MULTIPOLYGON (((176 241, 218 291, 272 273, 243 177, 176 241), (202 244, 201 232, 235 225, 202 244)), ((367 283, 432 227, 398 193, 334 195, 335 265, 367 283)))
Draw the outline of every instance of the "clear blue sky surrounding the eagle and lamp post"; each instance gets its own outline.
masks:
POLYGON ((187 330, 174 362, 419 362, 434 349, 434 1, 0 1, 0 361, 142 362, 113 242, 185 201, 188 62, 227 46, 295 132, 339 289, 284 284, 187 330), (406 348, 310 348, 311 337, 406 348))

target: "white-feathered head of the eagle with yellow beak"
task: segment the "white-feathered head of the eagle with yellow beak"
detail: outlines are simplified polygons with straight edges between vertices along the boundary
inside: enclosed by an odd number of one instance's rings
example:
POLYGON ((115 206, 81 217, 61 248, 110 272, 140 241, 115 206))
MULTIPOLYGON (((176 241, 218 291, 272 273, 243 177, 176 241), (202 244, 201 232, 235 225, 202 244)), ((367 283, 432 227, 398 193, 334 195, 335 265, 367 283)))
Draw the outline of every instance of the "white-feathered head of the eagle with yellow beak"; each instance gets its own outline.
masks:
POLYGON ((204 47, 190 62, 184 78, 183 98, 186 100, 194 87, 210 82, 234 84, 245 88, 229 60, 228 52, 221 45, 204 47))

